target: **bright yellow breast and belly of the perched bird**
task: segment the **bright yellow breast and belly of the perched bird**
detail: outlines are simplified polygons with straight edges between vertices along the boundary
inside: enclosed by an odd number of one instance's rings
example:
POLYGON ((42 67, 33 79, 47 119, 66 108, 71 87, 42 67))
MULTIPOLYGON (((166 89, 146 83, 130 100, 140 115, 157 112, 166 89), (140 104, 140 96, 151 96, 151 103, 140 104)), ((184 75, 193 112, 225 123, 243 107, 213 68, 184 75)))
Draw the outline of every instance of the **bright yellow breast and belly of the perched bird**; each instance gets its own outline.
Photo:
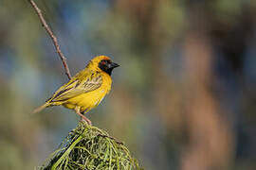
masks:
POLYGON ((81 107, 81 111, 89 111, 97 107, 104 96, 111 90, 112 79, 109 75, 102 73, 101 87, 88 93, 82 93, 74 98, 68 99, 64 107, 74 110, 76 106, 81 107))

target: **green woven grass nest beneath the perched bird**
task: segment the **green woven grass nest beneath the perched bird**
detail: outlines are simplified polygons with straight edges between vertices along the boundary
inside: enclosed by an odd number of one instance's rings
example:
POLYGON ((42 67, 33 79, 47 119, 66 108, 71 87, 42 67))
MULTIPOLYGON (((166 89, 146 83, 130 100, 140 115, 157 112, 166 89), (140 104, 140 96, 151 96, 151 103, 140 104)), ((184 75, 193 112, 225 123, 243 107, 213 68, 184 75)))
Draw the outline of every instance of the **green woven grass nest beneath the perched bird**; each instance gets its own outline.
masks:
POLYGON ((43 170, 140 170, 129 150, 107 132, 80 122, 50 155, 43 170))

